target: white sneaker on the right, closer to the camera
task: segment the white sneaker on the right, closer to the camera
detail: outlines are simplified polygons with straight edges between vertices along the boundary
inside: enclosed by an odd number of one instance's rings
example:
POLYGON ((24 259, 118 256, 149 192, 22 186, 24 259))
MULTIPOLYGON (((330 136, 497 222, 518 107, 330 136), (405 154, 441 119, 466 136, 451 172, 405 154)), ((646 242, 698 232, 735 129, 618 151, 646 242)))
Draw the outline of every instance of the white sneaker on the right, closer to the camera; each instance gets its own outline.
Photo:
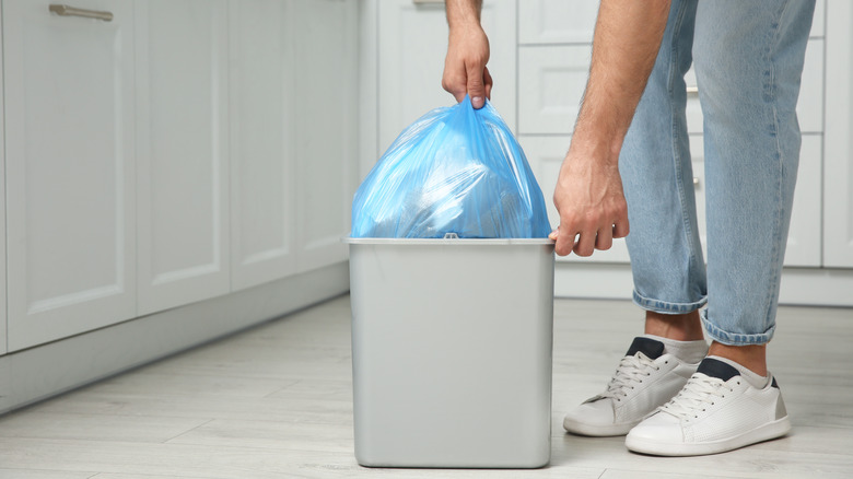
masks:
POLYGON ((671 401, 632 429, 626 446, 659 456, 716 454, 791 431, 774 378, 752 386, 722 358, 705 358, 671 401))

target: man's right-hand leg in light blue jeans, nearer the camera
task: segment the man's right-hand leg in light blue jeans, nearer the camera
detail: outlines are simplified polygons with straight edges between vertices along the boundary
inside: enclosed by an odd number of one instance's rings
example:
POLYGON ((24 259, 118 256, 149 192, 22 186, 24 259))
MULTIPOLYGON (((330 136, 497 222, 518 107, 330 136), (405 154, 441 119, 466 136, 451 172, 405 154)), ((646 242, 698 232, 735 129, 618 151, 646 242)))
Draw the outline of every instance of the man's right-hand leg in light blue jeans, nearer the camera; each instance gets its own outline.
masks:
MULTIPOLYGON (((714 350, 775 329, 799 160, 796 102, 814 1, 699 7, 693 48, 705 118, 708 284, 714 350)), ((763 348, 745 354, 767 373, 763 348)), ((746 350, 744 350, 746 351, 746 350)))

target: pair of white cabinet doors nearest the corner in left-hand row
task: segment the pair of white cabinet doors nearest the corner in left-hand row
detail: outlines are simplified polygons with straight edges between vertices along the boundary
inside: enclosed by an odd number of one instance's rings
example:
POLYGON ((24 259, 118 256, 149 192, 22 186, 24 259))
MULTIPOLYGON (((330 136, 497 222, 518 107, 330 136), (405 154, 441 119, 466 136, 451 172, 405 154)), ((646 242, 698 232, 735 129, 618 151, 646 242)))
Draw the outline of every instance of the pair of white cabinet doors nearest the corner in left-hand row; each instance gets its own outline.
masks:
POLYGON ((232 1, 232 289, 346 260, 358 3, 232 1))

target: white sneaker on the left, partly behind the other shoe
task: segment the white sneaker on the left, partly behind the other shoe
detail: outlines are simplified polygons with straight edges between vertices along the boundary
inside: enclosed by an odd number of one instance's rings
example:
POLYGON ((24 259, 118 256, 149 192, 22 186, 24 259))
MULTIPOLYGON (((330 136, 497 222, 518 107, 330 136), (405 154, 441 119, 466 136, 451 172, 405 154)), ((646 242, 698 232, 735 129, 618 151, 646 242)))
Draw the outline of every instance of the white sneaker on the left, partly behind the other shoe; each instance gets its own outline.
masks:
POLYGON ((638 337, 619 362, 607 390, 571 410, 563 428, 592 436, 624 435, 655 408, 673 398, 698 364, 664 353, 664 343, 638 337))

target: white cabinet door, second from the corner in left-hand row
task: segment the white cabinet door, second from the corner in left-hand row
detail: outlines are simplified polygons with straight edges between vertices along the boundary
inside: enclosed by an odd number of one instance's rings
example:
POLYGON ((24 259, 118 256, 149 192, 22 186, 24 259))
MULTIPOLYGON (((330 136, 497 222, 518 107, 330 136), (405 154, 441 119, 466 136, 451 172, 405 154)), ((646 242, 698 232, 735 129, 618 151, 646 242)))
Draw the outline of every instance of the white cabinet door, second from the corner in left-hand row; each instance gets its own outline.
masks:
POLYGON ((300 69, 284 21, 291 9, 281 0, 230 3, 233 290, 295 271, 293 95, 300 69))

